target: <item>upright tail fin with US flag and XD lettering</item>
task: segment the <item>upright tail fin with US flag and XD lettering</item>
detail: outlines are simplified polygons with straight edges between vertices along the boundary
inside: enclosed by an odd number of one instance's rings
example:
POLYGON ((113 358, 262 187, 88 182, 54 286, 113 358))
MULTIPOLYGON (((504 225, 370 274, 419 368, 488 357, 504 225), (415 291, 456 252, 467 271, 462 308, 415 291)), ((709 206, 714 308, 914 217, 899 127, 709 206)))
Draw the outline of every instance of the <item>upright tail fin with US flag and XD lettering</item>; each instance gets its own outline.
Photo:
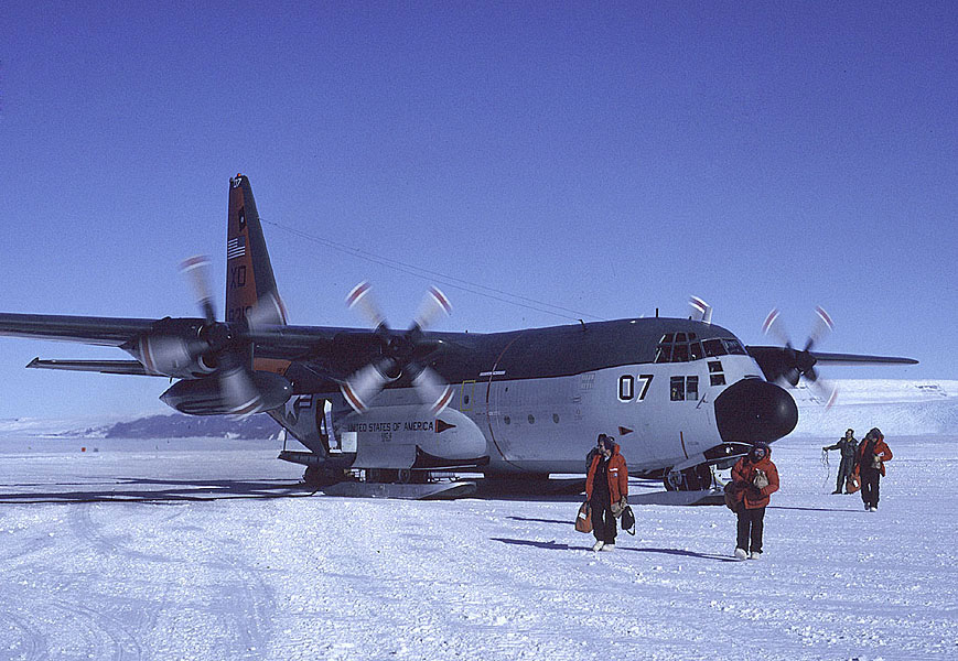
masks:
POLYGON ((262 226, 249 180, 229 180, 226 229, 226 321, 286 325, 287 314, 262 237, 262 226))

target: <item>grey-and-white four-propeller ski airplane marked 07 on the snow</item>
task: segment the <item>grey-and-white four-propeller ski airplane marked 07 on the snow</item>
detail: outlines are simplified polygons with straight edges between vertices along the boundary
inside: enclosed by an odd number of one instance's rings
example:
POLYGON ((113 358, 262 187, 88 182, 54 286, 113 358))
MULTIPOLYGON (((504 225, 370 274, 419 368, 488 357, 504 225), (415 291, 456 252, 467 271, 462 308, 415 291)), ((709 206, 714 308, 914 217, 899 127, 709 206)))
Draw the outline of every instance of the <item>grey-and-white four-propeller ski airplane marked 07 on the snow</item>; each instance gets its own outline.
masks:
MULTIPOLYGON (((121 318, 0 314, 0 335, 118 347, 132 360, 32 360, 28 367, 158 376, 161 395, 191 415, 266 412, 304 449, 308 484, 428 485, 441 472, 537 485, 582 474, 600 433, 614 436, 632 475, 667 490, 703 490, 757 442, 798 422, 783 387, 807 380, 828 393, 816 365, 898 364, 909 358, 746 346, 711 323, 692 297, 688 318, 583 322, 505 333, 427 328, 450 312, 431 289, 410 328, 389 327, 368 283, 349 295, 373 329, 294 326, 279 296, 248 177, 229 181, 226 314, 217 321, 208 260, 183 270, 202 317, 121 318)), ((779 333, 777 311, 766 333, 779 333)), ((833 398, 833 393, 831 394, 833 398)), ((830 403, 830 401, 829 401, 830 403)))

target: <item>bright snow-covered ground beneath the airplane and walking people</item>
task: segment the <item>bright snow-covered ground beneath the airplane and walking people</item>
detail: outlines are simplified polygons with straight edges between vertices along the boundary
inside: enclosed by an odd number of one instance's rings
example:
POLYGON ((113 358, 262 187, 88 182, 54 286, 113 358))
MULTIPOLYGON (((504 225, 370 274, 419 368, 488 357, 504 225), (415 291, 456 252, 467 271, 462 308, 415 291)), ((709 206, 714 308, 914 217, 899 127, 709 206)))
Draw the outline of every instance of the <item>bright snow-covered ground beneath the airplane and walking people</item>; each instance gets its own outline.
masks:
POLYGON ((886 429, 870 513, 829 495, 838 426, 773 446, 744 562, 724 507, 636 506, 596 554, 572 498, 310 496, 275 442, 3 440, 0 659, 958 658, 958 432, 886 429))

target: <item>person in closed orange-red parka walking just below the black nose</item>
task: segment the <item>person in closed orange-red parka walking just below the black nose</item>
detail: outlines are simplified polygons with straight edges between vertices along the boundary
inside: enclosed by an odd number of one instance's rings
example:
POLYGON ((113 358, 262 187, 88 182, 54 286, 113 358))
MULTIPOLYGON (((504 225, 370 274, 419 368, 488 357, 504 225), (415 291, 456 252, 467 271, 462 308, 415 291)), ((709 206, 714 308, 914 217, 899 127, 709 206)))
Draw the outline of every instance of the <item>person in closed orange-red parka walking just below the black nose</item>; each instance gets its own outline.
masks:
POLYGON ((778 490, 778 468, 772 463, 772 448, 756 443, 747 455, 732 468, 739 507, 735 557, 762 557, 762 537, 765 531, 765 507, 768 496, 778 490), (751 543, 751 544, 750 544, 751 543))

